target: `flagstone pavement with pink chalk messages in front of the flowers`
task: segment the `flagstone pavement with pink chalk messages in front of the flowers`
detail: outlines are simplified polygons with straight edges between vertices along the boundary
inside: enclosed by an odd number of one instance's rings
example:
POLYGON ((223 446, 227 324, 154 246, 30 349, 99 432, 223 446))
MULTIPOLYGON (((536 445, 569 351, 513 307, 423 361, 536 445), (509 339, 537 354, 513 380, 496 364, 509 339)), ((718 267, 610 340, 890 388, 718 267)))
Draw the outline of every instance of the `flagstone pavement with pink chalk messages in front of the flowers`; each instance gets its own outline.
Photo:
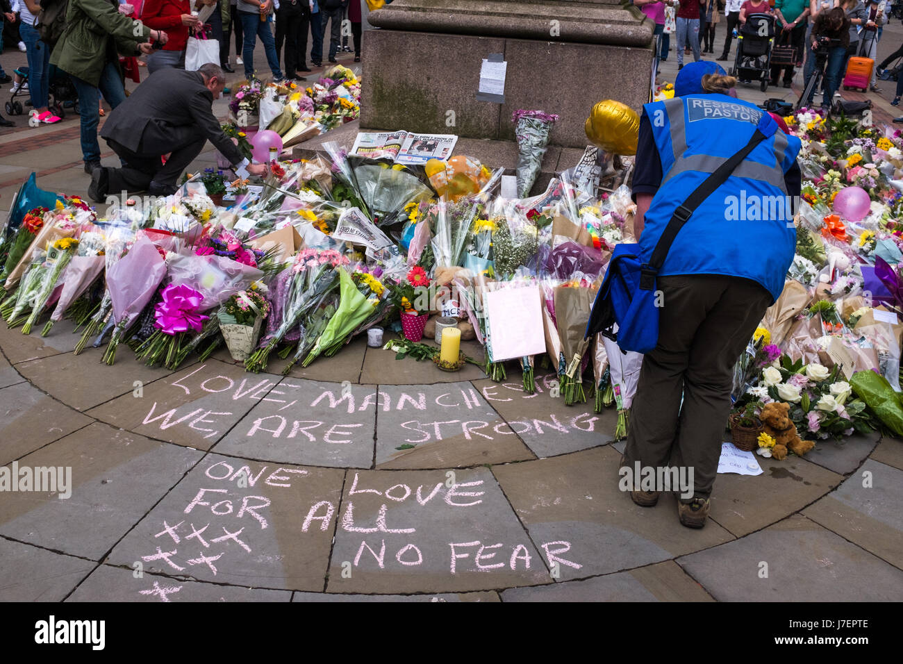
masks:
MULTIPOLYGON (((68 120, 0 134, 3 204, 31 170, 84 194, 78 160, 68 120)), ((720 475, 691 530, 618 490, 613 411, 564 406, 543 371, 531 396, 514 366, 494 383, 354 341, 285 376, 222 351, 169 372, 77 340, 0 325, 0 464, 72 484, 0 493, 0 600, 903 599, 899 440, 720 475)))

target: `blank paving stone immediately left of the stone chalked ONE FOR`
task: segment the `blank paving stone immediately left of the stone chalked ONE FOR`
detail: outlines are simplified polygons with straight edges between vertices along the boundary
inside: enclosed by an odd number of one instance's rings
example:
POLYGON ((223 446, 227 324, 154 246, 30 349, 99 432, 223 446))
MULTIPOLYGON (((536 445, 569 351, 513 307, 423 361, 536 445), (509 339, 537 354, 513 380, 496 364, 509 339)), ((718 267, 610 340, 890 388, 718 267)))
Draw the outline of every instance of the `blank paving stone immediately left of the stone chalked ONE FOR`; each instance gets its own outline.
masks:
POLYGON ((28 454, 23 467, 71 467, 71 495, 11 492, 0 534, 98 560, 201 454, 95 423, 28 454))

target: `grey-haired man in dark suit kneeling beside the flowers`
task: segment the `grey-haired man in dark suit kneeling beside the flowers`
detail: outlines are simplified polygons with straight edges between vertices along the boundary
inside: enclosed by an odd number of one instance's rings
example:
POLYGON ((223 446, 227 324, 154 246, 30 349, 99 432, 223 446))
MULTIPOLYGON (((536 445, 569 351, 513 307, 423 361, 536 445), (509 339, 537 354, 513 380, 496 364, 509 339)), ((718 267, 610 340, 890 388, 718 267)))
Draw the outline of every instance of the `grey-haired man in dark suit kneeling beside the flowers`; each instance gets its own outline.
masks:
POLYGON ((166 67, 154 71, 122 102, 104 124, 100 136, 122 160, 122 168, 101 166, 91 173, 88 195, 106 200, 107 192, 148 192, 166 196, 176 191, 182 171, 209 140, 234 167, 265 175, 265 164, 249 164, 213 115, 213 100, 226 87, 222 70, 205 64, 197 71, 166 67), (160 157, 170 154, 166 164, 160 157))

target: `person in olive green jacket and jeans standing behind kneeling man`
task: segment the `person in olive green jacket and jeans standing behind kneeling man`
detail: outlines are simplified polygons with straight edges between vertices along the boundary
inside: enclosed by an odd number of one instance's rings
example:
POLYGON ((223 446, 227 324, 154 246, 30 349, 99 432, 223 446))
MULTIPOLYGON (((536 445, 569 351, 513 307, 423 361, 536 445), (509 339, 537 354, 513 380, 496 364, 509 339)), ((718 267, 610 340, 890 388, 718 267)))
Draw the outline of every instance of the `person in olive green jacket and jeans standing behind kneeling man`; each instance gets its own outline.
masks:
POLYGON ((120 14, 118 7, 116 0, 70 0, 66 27, 51 53, 51 64, 70 75, 79 94, 85 173, 100 165, 98 95, 103 92, 113 108, 126 98, 119 55, 150 53, 154 42, 166 43, 166 33, 120 14))

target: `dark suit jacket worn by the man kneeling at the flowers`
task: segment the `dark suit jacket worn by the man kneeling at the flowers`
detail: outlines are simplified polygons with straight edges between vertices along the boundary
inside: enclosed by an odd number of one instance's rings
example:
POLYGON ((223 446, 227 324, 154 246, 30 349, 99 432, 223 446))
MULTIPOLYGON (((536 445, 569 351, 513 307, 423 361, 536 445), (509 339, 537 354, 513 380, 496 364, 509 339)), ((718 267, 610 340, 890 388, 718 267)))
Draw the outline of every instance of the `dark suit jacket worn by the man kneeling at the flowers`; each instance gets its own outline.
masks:
POLYGON ((206 137, 231 164, 244 159, 213 116, 213 93, 199 71, 154 71, 117 106, 100 136, 136 154, 167 154, 206 137))

